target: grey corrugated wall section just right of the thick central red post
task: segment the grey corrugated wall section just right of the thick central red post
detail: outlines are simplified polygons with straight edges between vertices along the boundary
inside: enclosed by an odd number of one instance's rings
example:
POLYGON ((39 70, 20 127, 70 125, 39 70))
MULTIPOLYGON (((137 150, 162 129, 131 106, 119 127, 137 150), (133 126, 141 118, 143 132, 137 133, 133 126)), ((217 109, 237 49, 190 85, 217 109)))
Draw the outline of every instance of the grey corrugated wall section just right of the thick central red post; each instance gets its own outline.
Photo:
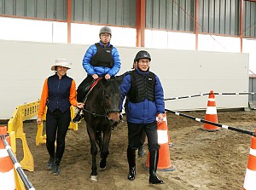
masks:
POLYGON ((195 0, 147 0, 146 27, 194 32, 195 0))

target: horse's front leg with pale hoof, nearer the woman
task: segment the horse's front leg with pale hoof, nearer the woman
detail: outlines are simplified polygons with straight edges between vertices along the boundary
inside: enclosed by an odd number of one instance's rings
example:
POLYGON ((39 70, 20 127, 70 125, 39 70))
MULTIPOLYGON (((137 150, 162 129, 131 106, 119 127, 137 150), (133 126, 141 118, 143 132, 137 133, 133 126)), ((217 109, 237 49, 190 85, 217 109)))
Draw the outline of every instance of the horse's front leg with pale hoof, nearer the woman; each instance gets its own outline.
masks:
POLYGON ((97 147, 96 147, 96 131, 94 130, 92 125, 87 124, 87 132, 90 137, 90 154, 91 154, 91 173, 90 180, 97 181, 97 165, 96 165, 96 155, 97 155, 97 147))

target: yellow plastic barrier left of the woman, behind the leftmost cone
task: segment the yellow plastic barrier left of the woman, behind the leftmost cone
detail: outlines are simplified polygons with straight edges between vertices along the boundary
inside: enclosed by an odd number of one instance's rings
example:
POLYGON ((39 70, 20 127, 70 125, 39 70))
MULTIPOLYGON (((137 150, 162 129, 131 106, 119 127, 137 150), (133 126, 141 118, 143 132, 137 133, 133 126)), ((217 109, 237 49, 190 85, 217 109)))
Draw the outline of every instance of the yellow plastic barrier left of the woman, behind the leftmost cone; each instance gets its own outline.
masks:
MULTIPOLYGON (((23 130, 23 121, 29 118, 33 118, 38 115, 39 101, 24 104, 16 107, 13 117, 8 122, 8 132, 15 131, 15 138, 20 138, 23 147, 23 158, 20 161, 20 165, 23 169, 33 171, 34 170, 34 159, 32 153, 26 142, 26 134, 23 130)), ((16 154, 16 147, 14 149, 16 154)))

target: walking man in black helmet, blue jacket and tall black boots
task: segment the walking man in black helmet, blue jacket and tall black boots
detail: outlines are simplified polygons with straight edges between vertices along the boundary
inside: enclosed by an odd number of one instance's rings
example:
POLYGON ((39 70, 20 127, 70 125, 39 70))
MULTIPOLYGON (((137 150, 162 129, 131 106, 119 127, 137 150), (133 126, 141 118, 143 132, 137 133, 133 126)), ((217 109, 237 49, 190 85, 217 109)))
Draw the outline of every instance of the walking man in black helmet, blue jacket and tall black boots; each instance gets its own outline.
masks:
POLYGON ((164 91, 160 79, 149 72, 151 56, 147 51, 141 50, 137 53, 135 60, 137 69, 125 75, 120 86, 122 101, 120 110, 123 107, 125 96, 128 96, 125 112, 128 124, 128 147, 127 159, 129 164, 128 179, 134 180, 136 176, 136 150, 140 145, 140 137, 143 130, 148 137, 149 157, 149 183, 160 184, 156 175, 159 144, 157 135, 156 115, 158 122, 162 123, 165 112, 164 91))

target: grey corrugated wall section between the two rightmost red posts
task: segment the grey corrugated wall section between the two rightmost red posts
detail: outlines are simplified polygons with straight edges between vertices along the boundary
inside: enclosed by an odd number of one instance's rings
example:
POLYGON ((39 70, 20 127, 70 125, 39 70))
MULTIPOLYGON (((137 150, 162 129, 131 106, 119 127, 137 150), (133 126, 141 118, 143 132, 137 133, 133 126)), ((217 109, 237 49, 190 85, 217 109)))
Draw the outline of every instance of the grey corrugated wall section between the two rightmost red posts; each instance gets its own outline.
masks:
POLYGON ((199 1, 199 32, 239 35, 240 1, 199 1))

